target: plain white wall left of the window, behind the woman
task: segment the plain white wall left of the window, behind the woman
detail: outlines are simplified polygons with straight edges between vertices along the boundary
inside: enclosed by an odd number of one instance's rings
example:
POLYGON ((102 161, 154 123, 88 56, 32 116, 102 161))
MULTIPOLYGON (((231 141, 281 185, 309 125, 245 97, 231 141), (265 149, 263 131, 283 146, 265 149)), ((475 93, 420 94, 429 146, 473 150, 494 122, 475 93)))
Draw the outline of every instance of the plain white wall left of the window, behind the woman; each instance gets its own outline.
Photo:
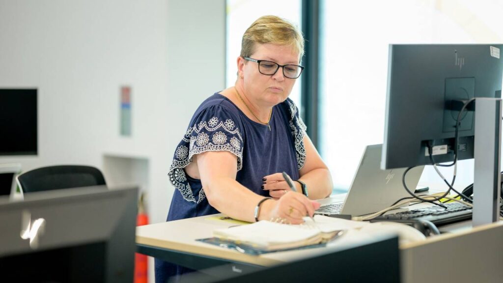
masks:
POLYGON ((150 222, 165 221, 175 148, 224 88, 224 27, 224 0, 0 0, 0 88, 39 90, 39 155, 0 163, 147 159, 150 222), (131 137, 119 135, 121 85, 132 87, 131 137))

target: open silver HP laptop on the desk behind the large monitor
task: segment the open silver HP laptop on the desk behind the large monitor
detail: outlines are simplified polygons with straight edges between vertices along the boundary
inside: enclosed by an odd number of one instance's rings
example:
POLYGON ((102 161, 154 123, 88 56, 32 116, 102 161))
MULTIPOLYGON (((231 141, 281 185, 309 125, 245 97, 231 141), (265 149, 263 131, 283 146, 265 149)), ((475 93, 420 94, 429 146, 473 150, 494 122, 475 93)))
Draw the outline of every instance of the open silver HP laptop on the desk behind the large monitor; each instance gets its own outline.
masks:
MULTIPOLYGON (((402 197, 410 196, 402 184, 406 168, 381 170, 381 151, 382 145, 367 146, 346 198, 319 199, 321 207, 315 214, 368 215, 391 206, 402 197)), ((424 166, 418 166, 407 172, 407 187, 415 190, 423 169, 424 166)))

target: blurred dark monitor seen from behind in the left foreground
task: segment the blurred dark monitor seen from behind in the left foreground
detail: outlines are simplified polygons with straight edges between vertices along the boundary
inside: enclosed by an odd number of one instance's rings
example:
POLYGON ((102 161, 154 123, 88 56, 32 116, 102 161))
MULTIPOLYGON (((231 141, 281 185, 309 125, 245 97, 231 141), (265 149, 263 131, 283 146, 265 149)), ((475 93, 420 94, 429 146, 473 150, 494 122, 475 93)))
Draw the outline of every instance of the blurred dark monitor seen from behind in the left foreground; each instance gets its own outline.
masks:
POLYGON ((136 187, 0 198, 2 281, 132 282, 136 212, 136 187))

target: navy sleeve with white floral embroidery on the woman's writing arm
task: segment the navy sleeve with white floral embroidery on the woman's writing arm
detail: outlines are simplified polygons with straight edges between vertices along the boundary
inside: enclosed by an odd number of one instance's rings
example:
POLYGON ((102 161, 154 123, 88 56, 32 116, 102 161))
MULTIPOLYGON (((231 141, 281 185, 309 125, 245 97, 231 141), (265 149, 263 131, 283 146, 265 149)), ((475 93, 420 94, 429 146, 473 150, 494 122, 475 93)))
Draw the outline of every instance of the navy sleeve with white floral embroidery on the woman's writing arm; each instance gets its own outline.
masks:
POLYGON ((187 201, 199 203, 204 199, 201 190, 194 196, 185 168, 194 155, 208 151, 227 151, 237 157, 237 171, 242 168, 243 138, 234 115, 221 105, 213 105, 196 113, 178 145, 170 167, 170 181, 187 201))

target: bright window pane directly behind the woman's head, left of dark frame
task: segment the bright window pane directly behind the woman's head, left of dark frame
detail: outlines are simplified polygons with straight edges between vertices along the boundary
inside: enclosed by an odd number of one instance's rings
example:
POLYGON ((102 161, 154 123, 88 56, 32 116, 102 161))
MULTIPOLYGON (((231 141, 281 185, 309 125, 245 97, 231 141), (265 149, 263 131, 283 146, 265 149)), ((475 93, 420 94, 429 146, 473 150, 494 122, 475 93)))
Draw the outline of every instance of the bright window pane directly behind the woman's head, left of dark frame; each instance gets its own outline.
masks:
MULTIPOLYGON (((237 79, 236 59, 241 51, 241 37, 258 18, 275 15, 301 27, 301 1, 291 0, 228 0, 227 1, 227 54, 226 86, 233 86, 237 79)), ((297 79, 290 98, 301 109, 300 79, 297 79)))

